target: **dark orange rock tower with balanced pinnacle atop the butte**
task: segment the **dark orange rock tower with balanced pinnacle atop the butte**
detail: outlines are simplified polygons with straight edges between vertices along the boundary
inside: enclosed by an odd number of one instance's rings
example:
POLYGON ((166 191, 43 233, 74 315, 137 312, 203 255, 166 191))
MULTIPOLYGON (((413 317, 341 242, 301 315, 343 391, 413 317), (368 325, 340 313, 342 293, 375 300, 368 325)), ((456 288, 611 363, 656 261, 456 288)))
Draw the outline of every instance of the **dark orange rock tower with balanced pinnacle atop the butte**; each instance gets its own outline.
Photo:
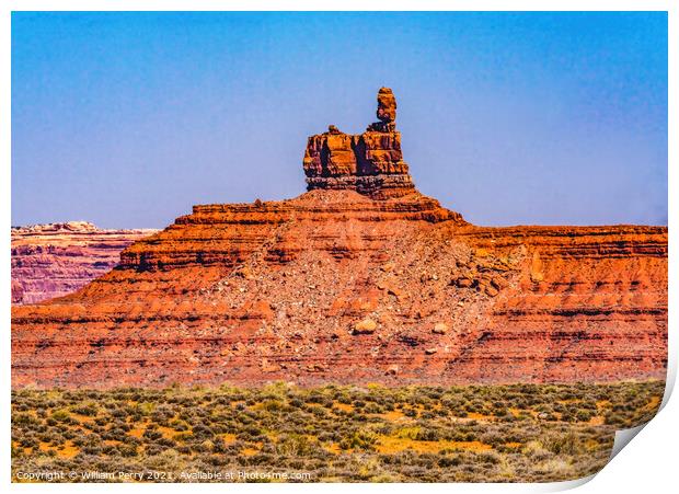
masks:
POLYGON ((309 137, 303 160, 307 189, 353 189, 373 199, 415 192, 401 152, 391 89, 381 88, 377 101, 380 122, 364 134, 345 134, 331 125, 326 133, 309 137))

